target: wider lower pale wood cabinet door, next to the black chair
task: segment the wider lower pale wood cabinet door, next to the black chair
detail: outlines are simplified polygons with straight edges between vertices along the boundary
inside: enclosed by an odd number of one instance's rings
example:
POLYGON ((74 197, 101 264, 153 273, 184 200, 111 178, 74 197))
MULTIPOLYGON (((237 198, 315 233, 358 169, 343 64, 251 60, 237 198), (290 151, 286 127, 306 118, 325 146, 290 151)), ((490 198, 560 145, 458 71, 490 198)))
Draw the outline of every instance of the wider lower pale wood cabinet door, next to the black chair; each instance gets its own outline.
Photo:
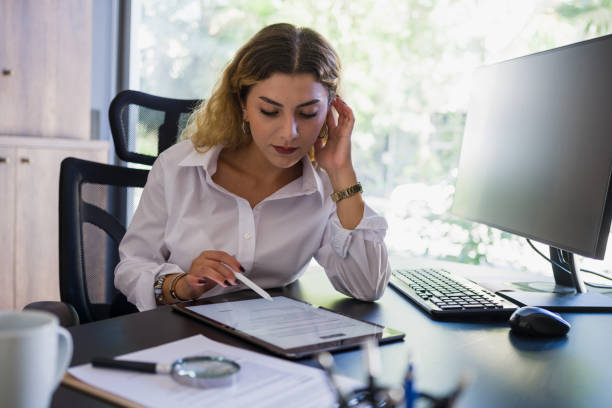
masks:
POLYGON ((59 300, 59 172, 68 156, 105 161, 106 151, 18 148, 15 229, 17 309, 59 300))

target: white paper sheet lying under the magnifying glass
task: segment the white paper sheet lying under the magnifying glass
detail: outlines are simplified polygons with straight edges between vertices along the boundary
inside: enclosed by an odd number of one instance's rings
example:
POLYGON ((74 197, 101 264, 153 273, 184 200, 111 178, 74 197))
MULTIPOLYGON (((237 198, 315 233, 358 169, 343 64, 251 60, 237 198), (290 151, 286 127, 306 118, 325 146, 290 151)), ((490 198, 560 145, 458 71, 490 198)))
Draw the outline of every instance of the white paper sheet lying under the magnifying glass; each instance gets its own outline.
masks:
MULTIPOLYGON (((167 343, 118 358, 170 364, 194 355, 223 356, 241 369, 236 384, 226 388, 200 389, 176 383, 163 374, 144 374, 72 367, 79 380, 148 407, 332 407, 335 403, 322 370, 266 356, 210 340, 202 335, 167 343)), ((336 378, 344 390, 361 385, 347 377, 336 378)))

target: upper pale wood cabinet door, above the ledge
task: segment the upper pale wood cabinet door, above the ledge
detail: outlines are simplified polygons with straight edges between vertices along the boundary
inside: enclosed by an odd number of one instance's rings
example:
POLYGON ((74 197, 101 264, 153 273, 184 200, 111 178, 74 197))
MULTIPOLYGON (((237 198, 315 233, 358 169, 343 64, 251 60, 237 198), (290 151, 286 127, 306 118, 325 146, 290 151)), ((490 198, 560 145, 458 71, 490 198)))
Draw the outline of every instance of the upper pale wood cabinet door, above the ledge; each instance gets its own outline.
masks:
POLYGON ((91 1, 0 0, 0 134, 87 139, 91 1))

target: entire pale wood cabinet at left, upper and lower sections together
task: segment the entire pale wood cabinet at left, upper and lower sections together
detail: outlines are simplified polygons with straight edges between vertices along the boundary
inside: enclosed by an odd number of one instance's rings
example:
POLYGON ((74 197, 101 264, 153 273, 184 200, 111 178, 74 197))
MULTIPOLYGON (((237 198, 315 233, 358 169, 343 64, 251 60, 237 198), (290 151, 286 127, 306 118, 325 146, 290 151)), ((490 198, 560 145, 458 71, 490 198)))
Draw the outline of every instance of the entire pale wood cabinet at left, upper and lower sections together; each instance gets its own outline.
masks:
POLYGON ((91 141, 91 0, 0 0, 0 309, 59 299, 63 158, 91 141))

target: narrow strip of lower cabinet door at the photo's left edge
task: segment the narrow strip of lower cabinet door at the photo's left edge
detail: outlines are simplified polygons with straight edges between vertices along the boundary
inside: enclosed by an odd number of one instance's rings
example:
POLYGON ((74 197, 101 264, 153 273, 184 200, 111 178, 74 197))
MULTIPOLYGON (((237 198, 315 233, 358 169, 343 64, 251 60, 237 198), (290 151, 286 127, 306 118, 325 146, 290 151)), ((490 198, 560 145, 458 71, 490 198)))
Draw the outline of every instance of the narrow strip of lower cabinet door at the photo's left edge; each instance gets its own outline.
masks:
POLYGON ((15 151, 0 147, 0 309, 15 308, 15 151))

